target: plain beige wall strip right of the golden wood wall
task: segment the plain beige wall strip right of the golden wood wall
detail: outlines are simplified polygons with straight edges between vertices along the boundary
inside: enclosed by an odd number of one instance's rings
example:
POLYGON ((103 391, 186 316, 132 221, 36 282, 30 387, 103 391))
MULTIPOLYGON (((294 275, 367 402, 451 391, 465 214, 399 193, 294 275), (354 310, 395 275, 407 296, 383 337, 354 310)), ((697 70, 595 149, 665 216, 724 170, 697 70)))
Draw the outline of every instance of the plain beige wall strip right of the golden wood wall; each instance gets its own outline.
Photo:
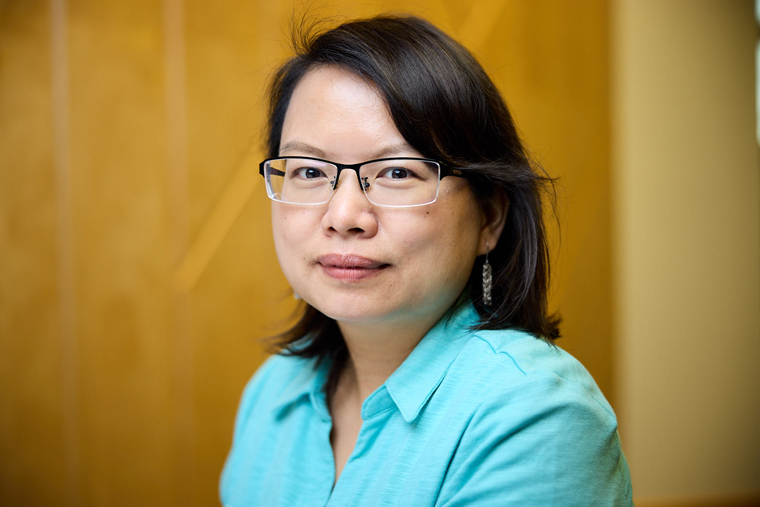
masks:
POLYGON ((634 492, 760 502, 753 3, 613 6, 617 382, 634 492))

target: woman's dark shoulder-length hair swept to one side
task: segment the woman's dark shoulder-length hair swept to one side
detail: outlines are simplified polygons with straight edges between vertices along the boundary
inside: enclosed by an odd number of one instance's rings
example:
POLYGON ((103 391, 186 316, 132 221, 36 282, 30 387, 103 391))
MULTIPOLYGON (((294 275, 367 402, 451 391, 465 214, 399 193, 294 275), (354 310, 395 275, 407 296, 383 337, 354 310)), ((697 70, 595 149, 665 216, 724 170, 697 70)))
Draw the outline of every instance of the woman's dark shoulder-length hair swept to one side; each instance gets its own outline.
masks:
MULTIPOLYGON (((268 156, 279 155, 290 98, 310 70, 336 65, 373 83, 406 141, 423 156, 466 172, 486 213, 503 205, 504 197, 509 201, 501 238, 488 254, 493 306, 482 302, 482 259, 466 289, 481 316, 476 328, 521 329, 549 342, 558 338, 560 319, 547 313, 549 253, 542 206, 547 190, 554 203, 554 181, 527 156, 506 104, 475 58, 416 17, 378 16, 321 33, 302 24, 294 30, 293 45, 295 56, 276 72, 269 88, 268 156)), ((276 343, 284 353, 332 358, 333 380, 347 358, 335 321, 310 305, 276 343)))

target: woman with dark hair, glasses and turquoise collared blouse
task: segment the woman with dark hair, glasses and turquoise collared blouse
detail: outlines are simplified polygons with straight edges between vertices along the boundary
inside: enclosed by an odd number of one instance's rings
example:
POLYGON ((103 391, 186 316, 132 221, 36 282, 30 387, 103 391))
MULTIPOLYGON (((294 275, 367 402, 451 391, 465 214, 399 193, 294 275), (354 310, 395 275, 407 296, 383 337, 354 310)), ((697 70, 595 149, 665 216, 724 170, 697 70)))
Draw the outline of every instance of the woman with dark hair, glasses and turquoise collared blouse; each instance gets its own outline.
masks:
POLYGON ((543 189, 506 105, 412 17, 303 37, 262 162, 306 303, 247 386, 224 505, 630 505, 615 415, 556 348, 543 189))

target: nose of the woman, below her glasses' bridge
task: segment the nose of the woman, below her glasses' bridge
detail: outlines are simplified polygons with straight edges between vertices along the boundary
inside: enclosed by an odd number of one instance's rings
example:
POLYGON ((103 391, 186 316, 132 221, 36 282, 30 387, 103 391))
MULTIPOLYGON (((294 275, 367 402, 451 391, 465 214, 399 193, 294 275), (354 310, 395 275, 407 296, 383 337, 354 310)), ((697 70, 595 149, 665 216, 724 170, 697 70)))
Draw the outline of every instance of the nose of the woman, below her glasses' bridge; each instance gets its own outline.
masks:
POLYGON ((333 192, 327 211, 322 216, 326 234, 369 238, 377 234, 377 217, 372 203, 364 194, 356 171, 344 170, 333 192))

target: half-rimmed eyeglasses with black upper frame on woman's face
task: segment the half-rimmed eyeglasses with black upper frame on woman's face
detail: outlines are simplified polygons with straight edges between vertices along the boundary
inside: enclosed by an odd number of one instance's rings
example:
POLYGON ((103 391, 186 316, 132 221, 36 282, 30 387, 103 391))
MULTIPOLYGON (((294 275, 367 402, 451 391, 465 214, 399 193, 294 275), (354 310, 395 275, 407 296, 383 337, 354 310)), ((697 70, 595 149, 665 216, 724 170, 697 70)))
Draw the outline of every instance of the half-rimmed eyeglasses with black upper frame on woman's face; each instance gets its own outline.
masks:
POLYGON ((259 165, 273 201, 325 204, 338 188, 340 173, 356 171, 359 186, 377 206, 407 208, 431 204, 446 176, 466 177, 459 169, 427 158, 380 158, 361 164, 337 164, 311 157, 270 158, 259 165))

